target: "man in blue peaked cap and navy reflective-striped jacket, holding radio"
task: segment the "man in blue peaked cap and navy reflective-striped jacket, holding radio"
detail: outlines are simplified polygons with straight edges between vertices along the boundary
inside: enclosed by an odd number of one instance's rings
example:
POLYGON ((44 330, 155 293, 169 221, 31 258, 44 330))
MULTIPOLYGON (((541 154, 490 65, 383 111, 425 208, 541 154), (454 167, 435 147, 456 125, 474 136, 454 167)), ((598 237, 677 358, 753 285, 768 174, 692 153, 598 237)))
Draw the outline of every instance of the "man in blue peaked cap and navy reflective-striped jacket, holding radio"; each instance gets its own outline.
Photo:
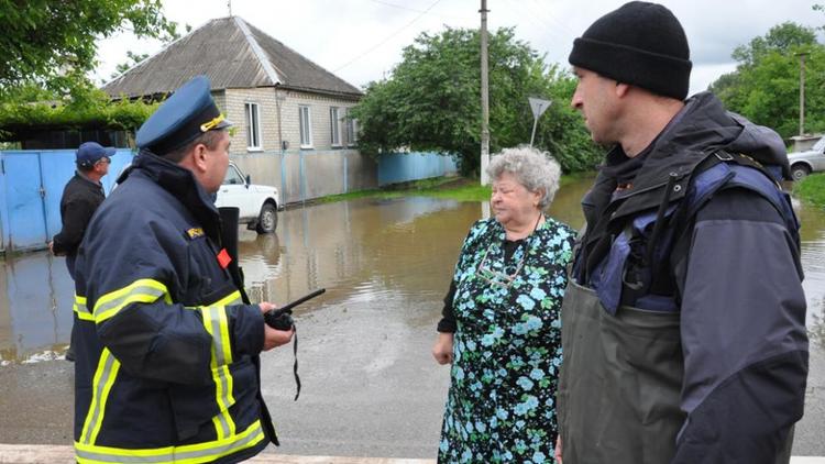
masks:
POLYGON ((139 155, 77 258, 75 452, 80 463, 233 463, 277 438, 260 353, 264 323, 229 266, 210 194, 231 124, 196 77, 138 131, 139 155))

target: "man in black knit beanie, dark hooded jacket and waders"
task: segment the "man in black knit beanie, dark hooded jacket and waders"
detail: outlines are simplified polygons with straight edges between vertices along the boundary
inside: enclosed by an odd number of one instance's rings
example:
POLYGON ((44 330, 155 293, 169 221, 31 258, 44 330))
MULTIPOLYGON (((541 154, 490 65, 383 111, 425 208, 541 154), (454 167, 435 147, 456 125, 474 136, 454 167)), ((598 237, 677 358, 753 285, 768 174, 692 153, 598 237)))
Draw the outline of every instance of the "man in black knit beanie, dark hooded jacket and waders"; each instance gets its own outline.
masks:
POLYGON ((569 59, 610 150, 562 307, 557 457, 788 463, 807 336, 782 140, 685 100, 688 40, 660 4, 602 16, 569 59))

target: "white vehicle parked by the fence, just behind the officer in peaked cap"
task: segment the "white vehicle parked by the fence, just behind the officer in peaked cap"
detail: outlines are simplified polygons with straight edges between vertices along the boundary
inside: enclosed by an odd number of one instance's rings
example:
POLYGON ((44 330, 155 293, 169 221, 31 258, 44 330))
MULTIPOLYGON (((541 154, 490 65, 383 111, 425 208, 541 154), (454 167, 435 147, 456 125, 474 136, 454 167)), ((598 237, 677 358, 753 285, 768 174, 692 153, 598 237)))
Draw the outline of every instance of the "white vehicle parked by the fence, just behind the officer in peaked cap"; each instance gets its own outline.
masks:
POLYGON ((218 190, 217 207, 238 207, 240 222, 257 233, 273 233, 278 225, 278 189, 250 183, 233 163, 218 190))

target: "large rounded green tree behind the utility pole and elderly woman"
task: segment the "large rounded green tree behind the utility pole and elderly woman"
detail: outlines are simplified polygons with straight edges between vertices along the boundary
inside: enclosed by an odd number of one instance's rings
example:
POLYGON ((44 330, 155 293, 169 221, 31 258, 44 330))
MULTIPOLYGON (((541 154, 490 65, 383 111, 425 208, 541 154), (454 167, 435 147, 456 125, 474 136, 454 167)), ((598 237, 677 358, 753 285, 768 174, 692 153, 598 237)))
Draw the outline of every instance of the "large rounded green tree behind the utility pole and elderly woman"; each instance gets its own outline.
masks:
MULTIPOLYGON (((512 29, 490 34, 491 152, 527 143, 532 129, 529 96, 556 100, 537 131, 537 145, 565 163, 592 167, 601 158, 580 117, 568 108, 569 75, 548 69, 512 29), (553 121, 550 121, 554 118, 553 121), (566 133, 571 131, 570 133, 566 133), (582 143, 582 141, 586 143, 582 143)), ((476 30, 422 33, 405 47, 389 78, 371 82, 352 111, 363 153, 380 155, 399 147, 457 156, 464 174, 477 173, 481 154, 480 36, 476 30)), ((574 88, 574 84, 573 84, 574 88)))

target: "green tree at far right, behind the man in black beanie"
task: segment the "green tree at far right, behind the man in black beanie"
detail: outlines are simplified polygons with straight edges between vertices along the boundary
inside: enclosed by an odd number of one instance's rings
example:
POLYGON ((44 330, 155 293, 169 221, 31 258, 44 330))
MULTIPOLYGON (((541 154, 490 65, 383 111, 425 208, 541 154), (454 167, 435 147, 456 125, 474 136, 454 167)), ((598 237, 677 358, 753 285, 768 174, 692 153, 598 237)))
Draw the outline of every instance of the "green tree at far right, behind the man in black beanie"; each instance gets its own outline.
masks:
POLYGON ((783 137, 799 132, 800 58, 805 53, 805 130, 825 130, 825 45, 815 30, 795 23, 773 26, 765 36, 739 46, 734 73, 711 90, 733 111, 774 129, 783 137))

